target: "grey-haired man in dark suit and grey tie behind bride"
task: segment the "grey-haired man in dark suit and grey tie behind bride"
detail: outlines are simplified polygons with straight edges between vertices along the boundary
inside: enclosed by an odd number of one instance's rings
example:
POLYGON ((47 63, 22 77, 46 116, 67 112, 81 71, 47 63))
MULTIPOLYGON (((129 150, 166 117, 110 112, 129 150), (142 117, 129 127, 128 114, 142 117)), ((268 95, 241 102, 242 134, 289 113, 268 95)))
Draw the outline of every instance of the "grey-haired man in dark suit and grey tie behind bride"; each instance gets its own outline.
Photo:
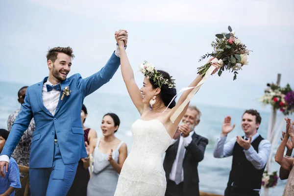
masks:
POLYGON ((199 109, 189 106, 166 151, 163 162, 167 178, 165 196, 199 196, 197 167, 208 144, 206 138, 195 133, 200 117, 199 109))

